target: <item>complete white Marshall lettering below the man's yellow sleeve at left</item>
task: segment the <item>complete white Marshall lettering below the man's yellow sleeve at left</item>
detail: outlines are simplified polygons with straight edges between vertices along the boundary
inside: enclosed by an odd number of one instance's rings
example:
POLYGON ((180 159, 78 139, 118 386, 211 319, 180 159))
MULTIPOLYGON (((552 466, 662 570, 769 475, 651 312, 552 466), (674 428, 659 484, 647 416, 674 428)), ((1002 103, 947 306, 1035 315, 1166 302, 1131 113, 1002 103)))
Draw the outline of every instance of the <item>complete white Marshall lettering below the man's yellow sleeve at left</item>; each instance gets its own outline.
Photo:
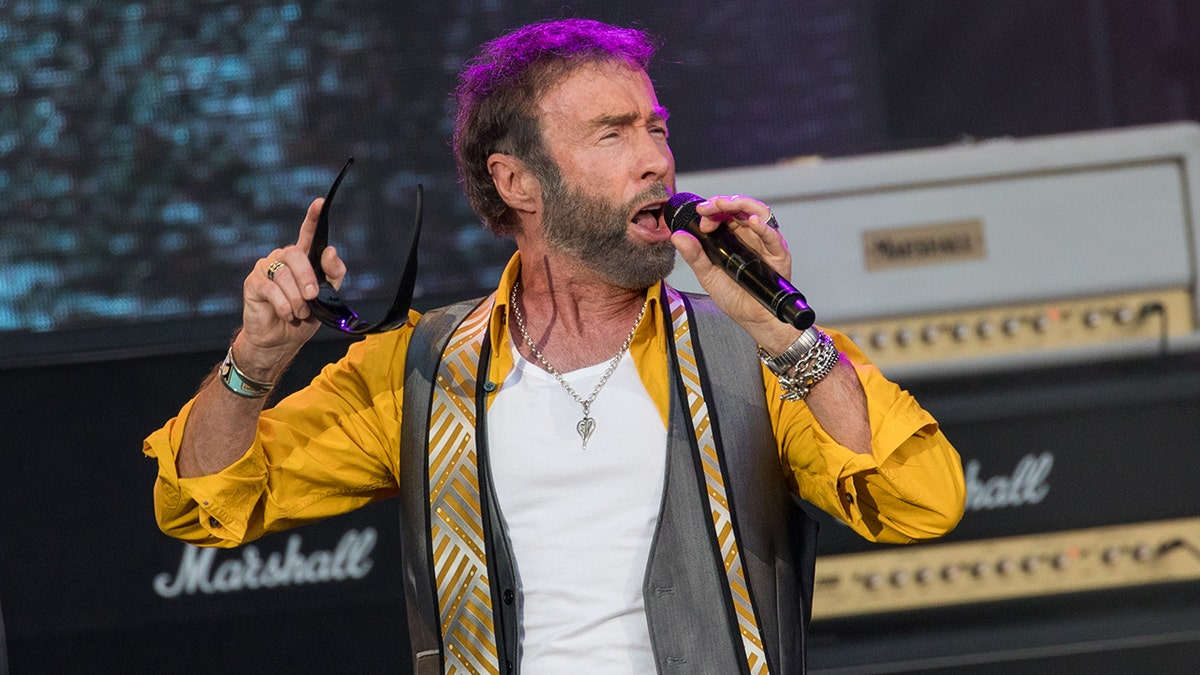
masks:
POLYGON ((263 557, 258 548, 250 545, 240 550, 241 558, 222 561, 214 569, 217 549, 184 545, 184 558, 179 571, 170 575, 162 573, 154 579, 154 590, 164 598, 181 595, 232 593, 275 586, 299 586, 362 579, 374 562, 371 551, 379 534, 373 527, 361 532, 349 530, 342 534, 334 550, 301 551, 300 534, 288 537, 284 551, 275 551, 263 557))

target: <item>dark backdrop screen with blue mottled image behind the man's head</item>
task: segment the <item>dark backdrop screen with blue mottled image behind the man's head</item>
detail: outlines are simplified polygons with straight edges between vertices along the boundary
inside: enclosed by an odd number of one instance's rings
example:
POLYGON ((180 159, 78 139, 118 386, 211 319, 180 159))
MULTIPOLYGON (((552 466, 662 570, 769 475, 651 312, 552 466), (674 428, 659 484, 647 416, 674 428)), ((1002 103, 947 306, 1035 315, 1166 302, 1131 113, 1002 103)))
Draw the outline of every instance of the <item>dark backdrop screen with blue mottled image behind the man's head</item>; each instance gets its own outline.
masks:
MULTIPOLYGON (((857 4, 642 5, 570 12, 662 37, 652 76, 680 171, 877 137, 857 4), (728 38, 733 22, 754 44, 728 38)), ((478 44, 563 14, 503 0, 0 2, 5 358, 224 340, 241 279, 295 239, 352 155, 331 219, 349 298, 371 309, 395 292, 418 183, 418 305, 485 292, 511 245, 461 197, 449 92, 478 44)))

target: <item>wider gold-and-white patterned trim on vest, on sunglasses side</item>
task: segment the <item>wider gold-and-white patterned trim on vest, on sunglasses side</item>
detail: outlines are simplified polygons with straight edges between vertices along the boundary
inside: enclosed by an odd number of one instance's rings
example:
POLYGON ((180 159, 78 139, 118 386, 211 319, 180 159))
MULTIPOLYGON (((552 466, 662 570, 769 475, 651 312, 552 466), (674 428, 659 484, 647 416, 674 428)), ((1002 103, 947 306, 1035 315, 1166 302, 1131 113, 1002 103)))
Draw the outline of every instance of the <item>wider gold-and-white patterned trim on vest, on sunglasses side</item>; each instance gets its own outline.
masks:
POLYGON ((475 382, 494 294, 455 330, 430 413, 430 537, 445 673, 499 675, 475 444, 475 382))

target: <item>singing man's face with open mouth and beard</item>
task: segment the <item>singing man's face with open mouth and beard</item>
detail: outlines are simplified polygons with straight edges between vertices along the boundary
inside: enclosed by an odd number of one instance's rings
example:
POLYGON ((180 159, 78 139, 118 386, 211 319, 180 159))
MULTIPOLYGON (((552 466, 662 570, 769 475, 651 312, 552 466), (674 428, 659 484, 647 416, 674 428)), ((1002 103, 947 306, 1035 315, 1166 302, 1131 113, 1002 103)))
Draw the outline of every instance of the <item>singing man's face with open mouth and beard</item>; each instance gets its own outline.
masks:
POLYGON ((666 110, 644 72, 584 66, 541 101, 550 167, 541 167, 542 234, 626 288, 644 288, 674 265, 662 205, 674 187, 666 110))

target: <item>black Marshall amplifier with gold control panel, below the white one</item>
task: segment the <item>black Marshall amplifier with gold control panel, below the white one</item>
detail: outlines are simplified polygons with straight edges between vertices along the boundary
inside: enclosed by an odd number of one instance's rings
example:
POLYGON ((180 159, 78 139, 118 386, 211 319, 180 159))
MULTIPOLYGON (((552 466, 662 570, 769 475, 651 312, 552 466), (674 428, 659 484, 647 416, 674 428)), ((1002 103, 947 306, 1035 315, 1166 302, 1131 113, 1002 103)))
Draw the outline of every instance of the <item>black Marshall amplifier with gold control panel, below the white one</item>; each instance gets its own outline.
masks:
POLYGON ((1200 658, 1200 354, 913 381, 962 455, 936 542, 821 516, 818 673, 1175 673, 1200 658))

